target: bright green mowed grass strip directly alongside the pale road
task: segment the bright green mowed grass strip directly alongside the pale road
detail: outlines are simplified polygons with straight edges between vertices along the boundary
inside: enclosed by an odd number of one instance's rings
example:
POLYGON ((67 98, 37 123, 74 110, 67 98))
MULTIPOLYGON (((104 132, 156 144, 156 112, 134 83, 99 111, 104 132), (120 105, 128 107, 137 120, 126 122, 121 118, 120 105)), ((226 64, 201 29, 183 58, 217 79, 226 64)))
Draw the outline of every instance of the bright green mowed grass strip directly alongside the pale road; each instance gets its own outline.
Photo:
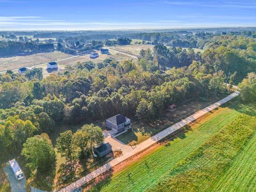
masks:
MULTIPOLYGON (((238 117, 255 111, 255 106, 231 101, 192 124, 190 131, 157 148, 121 172, 91 188, 91 191, 144 191, 167 178, 170 171, 238 117)), ((254 114, 255 115, 255 114, 254 114)))

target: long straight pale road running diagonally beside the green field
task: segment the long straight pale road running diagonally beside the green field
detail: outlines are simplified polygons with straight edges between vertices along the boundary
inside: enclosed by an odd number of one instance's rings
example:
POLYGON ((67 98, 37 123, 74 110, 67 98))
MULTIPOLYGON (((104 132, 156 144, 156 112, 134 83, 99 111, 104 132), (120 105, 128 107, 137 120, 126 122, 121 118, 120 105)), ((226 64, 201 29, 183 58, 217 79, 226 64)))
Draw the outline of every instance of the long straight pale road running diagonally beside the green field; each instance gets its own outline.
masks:
POLYGON ((110 170, 112 167, 114 167, 115 165, 125 161, 125 159, 132 157, 133 155, 139 153, 142 150, 147 149, 148 147, 150 147, 151 145, 154 145, 156 142, 164 139, 165 137, 167 137, 169 134, 179 130, 181 127, 195 121, 195 119, 197 119, 198 117, 201 117, 203 115, 205 115, 206 113, 208 113, 209 111, 221 106, 222 104, 228 102, 229 100, 235 98, 237 95, 239 95, 239 92, 234 92, 232 94, 230 94, 228 97, 214 103, 213 105, 210 105, 202 110, 197 111, 195 114, 190 115, 189 117, 183 119, 182 121, 170 126, 169 128, 165 129, 164 131, 154 135, 153 137, 147 139, 146 141, 143 141, 142 143, 140 143, 140 145, 137 145, 136 148, 134 148, 132 151, 130 151, 129 153, 125 153, 123 156, 117 157, 115 159, 113 159, 112 161, 110 161, 109 163, 106 163, 105 165, 101 166, 99 169, 85 175, 85 177, 78 179, 77 181, 71 183, 69 186, 61 189, 61 192, 69 192, 69 191, 73 191, 74 189, 83 186, 85 183, 93 180, 94 178, 97 178, 99 175, 101 175, 102 173, 105 173, 106 171, 110 170))

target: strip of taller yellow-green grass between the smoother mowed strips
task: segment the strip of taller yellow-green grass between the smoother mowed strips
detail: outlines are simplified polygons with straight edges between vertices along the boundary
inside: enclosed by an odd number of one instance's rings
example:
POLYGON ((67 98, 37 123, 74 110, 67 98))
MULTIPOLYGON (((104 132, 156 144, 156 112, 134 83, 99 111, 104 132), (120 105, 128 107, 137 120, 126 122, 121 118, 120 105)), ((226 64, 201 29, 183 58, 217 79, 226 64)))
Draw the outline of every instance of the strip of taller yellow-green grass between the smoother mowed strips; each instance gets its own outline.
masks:
POLYGON ((241 115, 176 164, 149 191, 208 191, 254 133, 256 117, 241 115))

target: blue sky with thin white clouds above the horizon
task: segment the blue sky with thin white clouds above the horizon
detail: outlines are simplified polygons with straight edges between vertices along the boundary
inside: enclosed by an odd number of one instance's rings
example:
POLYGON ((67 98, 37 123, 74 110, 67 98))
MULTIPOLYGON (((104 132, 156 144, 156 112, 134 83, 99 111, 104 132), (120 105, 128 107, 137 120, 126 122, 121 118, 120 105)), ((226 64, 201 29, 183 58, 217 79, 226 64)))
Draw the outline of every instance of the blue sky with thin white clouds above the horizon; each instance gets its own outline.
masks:
POLYGON ((0 0, 0 30, 256 27, 256 1, 0 0))

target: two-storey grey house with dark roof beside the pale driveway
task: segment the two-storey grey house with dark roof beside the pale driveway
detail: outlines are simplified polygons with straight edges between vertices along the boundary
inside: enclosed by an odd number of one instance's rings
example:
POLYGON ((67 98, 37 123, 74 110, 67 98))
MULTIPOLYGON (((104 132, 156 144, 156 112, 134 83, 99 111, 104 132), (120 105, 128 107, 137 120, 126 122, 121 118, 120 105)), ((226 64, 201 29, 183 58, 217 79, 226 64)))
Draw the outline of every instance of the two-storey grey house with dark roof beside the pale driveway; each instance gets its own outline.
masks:
POLYGON ((114 131, 114 133, 127 131, 132 127, 131 119, 121 114, 106 119, 106 126, 108 127, 108 129, 114 131))

